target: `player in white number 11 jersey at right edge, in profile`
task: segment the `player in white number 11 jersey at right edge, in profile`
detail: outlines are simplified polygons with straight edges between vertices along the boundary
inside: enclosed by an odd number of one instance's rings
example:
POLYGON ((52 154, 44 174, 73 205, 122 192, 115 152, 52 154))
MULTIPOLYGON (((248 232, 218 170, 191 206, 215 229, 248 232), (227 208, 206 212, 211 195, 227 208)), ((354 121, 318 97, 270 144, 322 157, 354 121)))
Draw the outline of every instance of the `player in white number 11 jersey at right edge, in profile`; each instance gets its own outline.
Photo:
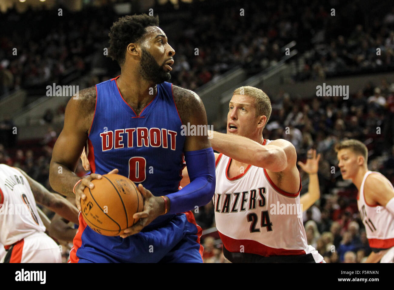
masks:
POLYGON ((394 187, 382 174, 368 170, 368 149, 354 139, 335 146, 344 180, 359 190, 357 206, 372 253, 366 263, 394 262, 394 187))

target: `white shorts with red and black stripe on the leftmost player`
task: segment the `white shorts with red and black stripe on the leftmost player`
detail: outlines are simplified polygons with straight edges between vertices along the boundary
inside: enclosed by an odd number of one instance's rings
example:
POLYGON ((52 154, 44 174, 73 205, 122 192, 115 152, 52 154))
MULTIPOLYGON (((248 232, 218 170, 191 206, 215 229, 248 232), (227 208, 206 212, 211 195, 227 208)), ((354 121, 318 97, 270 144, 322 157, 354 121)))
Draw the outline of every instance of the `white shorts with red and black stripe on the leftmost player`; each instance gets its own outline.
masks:
POLYGON ((3 262, 61 263, 60 249, 45 232, 36 232, 10 247, 3 257, 3 262))

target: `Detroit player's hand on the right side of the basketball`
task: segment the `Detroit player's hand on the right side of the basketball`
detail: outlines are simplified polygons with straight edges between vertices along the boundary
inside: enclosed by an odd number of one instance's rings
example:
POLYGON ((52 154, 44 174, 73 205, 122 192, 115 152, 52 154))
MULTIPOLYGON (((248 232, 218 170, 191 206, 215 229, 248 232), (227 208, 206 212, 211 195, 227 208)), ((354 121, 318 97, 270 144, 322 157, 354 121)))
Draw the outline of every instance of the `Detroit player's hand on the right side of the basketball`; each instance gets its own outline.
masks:
POLYGON ((164 200, 161 196, 152 195, 152 193, 143 187, 141 183, 138 185, 138 189, 145 200, 143 211, 134 213, 133 218, 139 218, 139 221, 130 228, 126 228, 121 238, 126 238, 141 232, 141 230, 156 219, 156 217, 164 214, 164 200))

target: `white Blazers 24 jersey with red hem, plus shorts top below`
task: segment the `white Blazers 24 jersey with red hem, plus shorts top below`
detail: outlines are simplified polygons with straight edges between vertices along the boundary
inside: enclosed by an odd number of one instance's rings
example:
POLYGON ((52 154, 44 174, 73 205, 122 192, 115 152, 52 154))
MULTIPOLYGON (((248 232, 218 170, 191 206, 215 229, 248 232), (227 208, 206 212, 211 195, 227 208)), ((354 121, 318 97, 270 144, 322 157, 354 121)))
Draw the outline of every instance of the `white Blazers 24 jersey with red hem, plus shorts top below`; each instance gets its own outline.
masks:
MULTIPOLYGON (((263 145, 271 142, 264 139, 263 145)), ((286 193, 269 178, 266 169, 248 165, 244 173, 228 178, 231 159, 216 160, 213 197, 216 227, 231 262, 323 262, 310 245, 297 193, 286 193), (265 258, 269 257, 269 258, 265 258)))

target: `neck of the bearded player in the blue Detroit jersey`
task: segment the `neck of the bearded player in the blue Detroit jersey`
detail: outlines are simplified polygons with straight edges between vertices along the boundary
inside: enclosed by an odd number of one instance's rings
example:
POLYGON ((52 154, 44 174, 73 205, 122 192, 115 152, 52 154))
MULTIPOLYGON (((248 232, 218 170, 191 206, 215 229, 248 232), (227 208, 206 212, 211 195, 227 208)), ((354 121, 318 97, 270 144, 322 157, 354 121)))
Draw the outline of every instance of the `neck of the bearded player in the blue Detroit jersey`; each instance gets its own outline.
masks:
POLYGON ((116 81, 126 102, 143 102, 146 99, 153 99, 157 93, 156 84, 143 79, 140 74, 133 70, 123 69, 121 76, 116 81))

